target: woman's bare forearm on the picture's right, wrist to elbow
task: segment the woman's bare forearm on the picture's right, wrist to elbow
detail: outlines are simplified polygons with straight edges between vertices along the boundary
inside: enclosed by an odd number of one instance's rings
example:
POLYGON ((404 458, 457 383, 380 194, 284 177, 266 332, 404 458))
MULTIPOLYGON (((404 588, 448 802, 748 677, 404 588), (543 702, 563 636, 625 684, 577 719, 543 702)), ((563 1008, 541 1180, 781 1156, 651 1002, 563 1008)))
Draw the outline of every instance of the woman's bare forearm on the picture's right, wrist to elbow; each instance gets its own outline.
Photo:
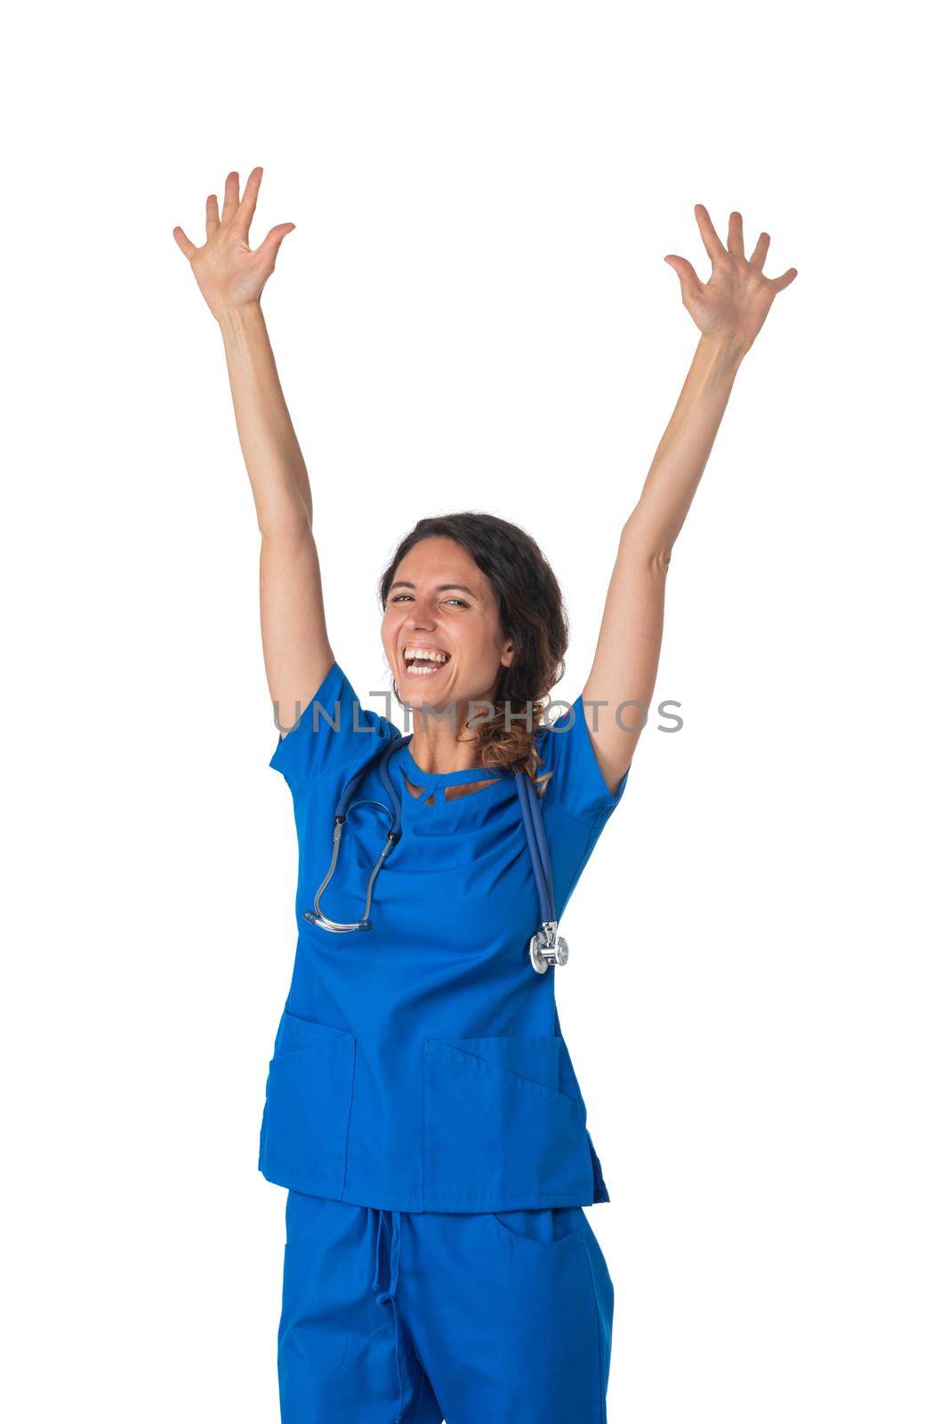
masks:
POLYGON ((660 567, 686 521, 744 352, 703 336, 622 543, 660 567))

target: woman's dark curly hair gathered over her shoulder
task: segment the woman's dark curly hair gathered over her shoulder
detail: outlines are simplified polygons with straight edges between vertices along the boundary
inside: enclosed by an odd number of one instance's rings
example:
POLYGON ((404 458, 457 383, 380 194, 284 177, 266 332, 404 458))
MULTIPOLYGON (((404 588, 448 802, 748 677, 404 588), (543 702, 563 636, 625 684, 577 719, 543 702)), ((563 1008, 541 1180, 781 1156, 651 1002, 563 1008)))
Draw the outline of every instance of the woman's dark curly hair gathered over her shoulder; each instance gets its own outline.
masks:
POLYGON ((551 689, 563 676, 569 632, 553 570, 525 530, 497 514, 438 514, 418 520, 393 554, 378 582, 383 608, 396 570, 424 538, 451 538, 467 550, 494 588, 504 637, 514 642, 511 666, 501 668, 495 695, 498 711, 491 721, 474 728, 475 765, 508 766, 525 772, 538 785, 545 785, 549 772, 538 776, 539 758, 534 733, 541 725, 551 689), (509 726, 505 726, 505 703, 511 709, 509 726), (525 712, 531 715, 531 725, 524 721, 525 712))

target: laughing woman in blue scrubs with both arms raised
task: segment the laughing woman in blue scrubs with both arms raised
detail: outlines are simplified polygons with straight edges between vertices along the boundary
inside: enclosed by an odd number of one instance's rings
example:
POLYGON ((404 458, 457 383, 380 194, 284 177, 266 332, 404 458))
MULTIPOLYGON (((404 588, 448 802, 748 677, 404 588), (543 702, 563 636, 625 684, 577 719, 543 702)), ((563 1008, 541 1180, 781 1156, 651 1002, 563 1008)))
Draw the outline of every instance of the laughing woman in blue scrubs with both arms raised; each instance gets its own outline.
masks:
POLYGON ((293 224, 249 246, 260 179, 240 198, 228 174, 203 246, 174 235, 223 336, 262 535, 272 765, 300 847, 260 1132, 260 1169, 289 1189, 282 1418, 593 1424, 613 1286, 583 1208, 609 1195, 546 970, 565 961, 556 918, 653 693, 672 547, 737 369, 797 273, 765 278, 767 234, 746 258, 741 215, 724 246, 701 205, 710 281, 666 258, 699 347, 620 531, 589 678, 556 722, 541 712, 566 619, 534 540, 472 513, 403 540, 380 592, 408 738, 361 706, 330 646, 310 484, 260 310, 293 224))

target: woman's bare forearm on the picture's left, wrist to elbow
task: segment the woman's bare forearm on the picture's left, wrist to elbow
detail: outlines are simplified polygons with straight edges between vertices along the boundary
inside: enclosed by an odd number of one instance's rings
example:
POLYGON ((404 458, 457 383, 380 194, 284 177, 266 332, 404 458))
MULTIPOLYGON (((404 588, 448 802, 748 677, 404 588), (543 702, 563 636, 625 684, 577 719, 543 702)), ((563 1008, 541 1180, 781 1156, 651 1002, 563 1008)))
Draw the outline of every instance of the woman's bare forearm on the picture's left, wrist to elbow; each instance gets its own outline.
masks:
POLYGON ((310 481, 280 389, 260 303, 229 309, 218 325, 260 533, 267 537, 303 525, 309 528, 313 524, 310 481))

